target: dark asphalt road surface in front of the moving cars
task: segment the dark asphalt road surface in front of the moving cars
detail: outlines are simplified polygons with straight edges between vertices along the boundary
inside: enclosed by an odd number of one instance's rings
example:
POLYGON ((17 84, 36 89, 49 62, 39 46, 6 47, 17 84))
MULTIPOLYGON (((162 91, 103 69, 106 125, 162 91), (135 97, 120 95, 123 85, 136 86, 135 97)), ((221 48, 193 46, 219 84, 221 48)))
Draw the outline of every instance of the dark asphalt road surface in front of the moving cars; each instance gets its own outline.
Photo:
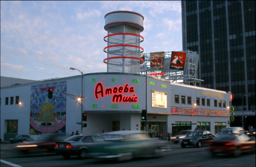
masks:
POLYGON ((169 155, 162 158, 135 158, 117 162, 113 160, 78 159, 71 156, 64 159, 54 153, 19 154, 12 151, 13 145, 1 144, 1 166, 255 166, 255 154, 244 153, 240 157, 220 154, 216 157, 208 152, 209 146, 202 148, 181 148, 177 144, 169 144, 169 155))

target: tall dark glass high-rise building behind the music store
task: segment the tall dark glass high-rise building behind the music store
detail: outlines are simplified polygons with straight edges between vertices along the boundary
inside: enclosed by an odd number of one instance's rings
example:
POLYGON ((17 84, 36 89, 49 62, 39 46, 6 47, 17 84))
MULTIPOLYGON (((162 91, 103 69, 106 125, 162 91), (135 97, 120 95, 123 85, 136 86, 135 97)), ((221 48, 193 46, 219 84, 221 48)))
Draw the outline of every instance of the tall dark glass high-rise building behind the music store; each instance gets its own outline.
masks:
POLYGON ((231 91, 236 111, 255 109, 255 2, 182 1, 182 30, 183 50, 200 55, 200 86, 231 91))

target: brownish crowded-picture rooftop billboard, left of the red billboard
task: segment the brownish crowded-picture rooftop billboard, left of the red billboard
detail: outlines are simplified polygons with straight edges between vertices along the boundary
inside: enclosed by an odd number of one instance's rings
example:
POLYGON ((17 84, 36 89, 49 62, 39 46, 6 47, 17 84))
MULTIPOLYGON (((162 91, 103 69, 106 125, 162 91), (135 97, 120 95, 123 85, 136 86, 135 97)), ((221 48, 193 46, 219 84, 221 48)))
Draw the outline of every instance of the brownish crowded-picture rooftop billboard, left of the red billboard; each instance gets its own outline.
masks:
POLYGON ((150 53, 150 68, 165 68, 165 52, 150 53))

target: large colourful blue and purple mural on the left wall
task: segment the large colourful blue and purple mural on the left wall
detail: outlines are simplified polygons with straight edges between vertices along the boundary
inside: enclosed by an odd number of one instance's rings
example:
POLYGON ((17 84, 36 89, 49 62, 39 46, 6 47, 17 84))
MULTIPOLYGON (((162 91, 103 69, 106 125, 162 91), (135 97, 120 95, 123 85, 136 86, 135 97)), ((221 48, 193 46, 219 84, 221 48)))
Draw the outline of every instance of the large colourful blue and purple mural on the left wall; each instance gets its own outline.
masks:
POLYGON ((31 86, 29 134, 66 133, 67 82, 31 86), (53 88, 52 99, 48 89, 53 88))

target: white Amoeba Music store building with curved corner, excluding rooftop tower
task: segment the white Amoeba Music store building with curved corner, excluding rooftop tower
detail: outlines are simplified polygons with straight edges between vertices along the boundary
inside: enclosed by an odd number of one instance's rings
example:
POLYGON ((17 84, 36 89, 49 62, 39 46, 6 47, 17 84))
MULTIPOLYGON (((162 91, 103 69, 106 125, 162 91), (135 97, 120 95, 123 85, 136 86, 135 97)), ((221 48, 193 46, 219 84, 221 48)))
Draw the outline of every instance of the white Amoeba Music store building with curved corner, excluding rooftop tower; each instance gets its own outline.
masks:
MULTIPOLYGON (((81 131, 81 75, 1 87, 1 138, 17 134, 81 131), (53 98, 48 99, 48 88, 53 98), (19 102, 22 102, 19 104, 19 102)), ((147 105, 148 133, 167 138, 180 130, 219 132, 229 120, 230 92, 172 83, 145 75, 93 73, 83 75, 83 134, 145 130, 142 110, 147 105), (147 82, 146 82, 147 81, 147 82), (196 104, 196 105, 194 105, 196 104)))

